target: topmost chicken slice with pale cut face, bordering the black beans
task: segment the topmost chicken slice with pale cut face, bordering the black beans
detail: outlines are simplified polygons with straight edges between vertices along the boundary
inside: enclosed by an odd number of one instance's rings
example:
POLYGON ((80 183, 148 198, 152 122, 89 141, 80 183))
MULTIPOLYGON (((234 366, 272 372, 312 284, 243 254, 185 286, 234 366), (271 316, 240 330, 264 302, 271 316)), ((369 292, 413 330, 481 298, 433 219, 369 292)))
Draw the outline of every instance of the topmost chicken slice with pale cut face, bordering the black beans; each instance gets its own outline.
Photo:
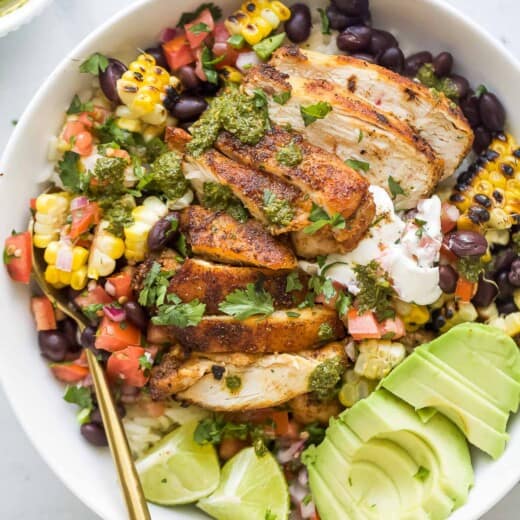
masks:
POLYGON ((270 64, 290 76, 336 83, 378 111, 406 121, 444 160, 442 178, 454 173, 471 150, 473 132, 456 105, 443 94, 384 67, 292 46, 278 49, 270 64))

